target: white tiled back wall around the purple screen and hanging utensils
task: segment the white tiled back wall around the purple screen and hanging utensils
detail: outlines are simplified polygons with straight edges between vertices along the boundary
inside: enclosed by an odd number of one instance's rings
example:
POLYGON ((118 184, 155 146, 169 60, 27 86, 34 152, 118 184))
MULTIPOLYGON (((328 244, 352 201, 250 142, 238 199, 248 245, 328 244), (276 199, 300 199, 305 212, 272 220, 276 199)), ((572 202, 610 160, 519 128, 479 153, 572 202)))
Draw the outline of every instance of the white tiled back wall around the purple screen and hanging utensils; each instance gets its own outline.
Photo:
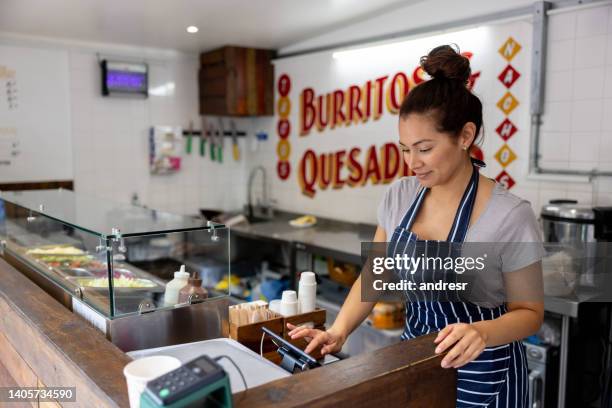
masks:
MULTIPOLYGON (((105 98, 100 93, 97 56, 70 52, 72 139, 76 191, 118 202, 137 193, 152 208, 196 214, 198 208, 240 207, 244 201, 244 159, 234 162, 229 150, 223 164, 200 157, 194 140, 183 168, 173 175, 151 175, 148 129, 151 125, 200 128, 197 57, 145 58, 149 63, 148 99, 105 98)), ((244 128, 249 121, 238 121, 244 128)), ((229 140, 226 146, 229 146, 229 140)), ((244 140, 240 140, 244 145, 244 140)))

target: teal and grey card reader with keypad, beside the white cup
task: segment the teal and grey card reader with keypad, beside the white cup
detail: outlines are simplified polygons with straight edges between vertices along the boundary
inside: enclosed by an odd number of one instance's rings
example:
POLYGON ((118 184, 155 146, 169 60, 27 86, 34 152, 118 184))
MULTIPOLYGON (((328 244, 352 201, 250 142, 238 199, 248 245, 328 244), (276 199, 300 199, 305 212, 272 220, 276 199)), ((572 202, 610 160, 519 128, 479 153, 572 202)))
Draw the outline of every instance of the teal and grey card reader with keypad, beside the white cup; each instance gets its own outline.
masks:
POLYGON ((147 383, 142 408, 231 408, 232 392, 223 368, 206 355, 147 383))

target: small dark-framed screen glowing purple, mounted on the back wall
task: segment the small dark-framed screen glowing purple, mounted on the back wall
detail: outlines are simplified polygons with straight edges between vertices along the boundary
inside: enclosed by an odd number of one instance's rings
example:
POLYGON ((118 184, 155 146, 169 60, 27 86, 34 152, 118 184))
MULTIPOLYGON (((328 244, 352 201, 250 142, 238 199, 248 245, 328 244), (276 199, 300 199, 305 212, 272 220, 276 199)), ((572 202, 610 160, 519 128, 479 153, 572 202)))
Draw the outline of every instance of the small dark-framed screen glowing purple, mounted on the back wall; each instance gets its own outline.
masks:
POLYGON ((102 95, 148 94, 148 67, 144 63, 102 61, 102 95))

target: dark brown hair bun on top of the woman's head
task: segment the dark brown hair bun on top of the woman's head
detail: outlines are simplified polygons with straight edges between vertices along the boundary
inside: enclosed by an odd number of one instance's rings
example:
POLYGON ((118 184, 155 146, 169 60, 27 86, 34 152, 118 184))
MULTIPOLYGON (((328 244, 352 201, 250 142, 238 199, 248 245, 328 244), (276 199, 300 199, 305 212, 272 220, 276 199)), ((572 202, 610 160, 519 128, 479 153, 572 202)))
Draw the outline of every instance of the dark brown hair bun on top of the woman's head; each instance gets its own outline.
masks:
POLYGON ((470 60, 450 45, 440 45, 421 57, 421 68, 436 79, 451 79, 467 84, 470 78, 470 60))

